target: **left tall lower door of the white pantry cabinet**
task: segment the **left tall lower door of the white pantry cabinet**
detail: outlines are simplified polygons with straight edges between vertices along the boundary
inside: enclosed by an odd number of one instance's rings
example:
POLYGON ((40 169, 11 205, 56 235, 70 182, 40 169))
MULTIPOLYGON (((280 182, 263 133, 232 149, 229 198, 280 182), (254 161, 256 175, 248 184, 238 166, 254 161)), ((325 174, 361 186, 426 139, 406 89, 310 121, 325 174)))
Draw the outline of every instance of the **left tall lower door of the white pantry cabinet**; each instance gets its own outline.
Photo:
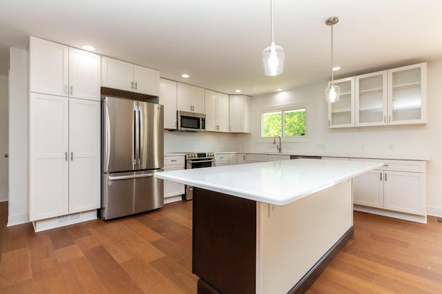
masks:
POLYGON ((68 213, 68 99, 30 94, 29 218, 68 213))

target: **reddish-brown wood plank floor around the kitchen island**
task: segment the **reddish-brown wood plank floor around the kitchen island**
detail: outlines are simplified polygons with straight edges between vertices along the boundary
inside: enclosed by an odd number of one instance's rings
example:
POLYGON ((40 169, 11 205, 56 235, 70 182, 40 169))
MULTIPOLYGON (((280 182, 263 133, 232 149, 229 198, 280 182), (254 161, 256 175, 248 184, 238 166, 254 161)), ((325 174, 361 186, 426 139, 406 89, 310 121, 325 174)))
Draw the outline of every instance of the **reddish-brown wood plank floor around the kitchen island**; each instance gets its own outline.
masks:
MULTIPOLYGON (((197 293, 192 202, 34 233, 6 227, 0 293, 197 293)), ((326 225, 326 224, 325 224, 326 225)), ((354 238, 307 293, 442 293, 442 223, 355 212, 354 238)))

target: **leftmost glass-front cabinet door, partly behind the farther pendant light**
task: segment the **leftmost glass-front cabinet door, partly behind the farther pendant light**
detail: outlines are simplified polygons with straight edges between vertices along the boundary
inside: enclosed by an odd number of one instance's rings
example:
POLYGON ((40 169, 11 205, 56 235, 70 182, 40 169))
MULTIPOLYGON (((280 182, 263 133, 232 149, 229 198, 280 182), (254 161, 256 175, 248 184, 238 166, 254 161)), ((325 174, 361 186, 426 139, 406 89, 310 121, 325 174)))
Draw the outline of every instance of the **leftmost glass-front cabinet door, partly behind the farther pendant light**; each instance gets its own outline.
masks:
POLYGON ((334 81, 340 87, 339 100, 329 103, 329 127, 354 127, 354 77, 334 81))

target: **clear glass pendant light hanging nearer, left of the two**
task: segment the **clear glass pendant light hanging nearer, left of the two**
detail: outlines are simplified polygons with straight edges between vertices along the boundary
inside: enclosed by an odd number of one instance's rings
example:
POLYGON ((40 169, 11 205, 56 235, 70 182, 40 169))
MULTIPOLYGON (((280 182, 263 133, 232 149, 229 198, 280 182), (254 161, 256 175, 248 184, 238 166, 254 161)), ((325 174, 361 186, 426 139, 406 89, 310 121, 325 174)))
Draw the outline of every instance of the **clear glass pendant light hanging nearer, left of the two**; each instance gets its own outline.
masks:
POLYGON ((278 76, 284 70, 284 49, 273 41, 273 0, 271 0, 271 44, 262 50, 262 63, 266 76, 278 76))

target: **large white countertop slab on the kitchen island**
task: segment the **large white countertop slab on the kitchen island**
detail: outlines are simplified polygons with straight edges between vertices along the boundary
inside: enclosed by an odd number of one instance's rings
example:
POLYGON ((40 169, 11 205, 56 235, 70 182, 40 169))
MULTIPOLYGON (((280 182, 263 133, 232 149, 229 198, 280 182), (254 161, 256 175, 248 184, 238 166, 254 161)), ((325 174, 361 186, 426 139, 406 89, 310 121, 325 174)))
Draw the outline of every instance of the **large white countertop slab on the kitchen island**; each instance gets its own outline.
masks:
POLYGON ((285 205, 382 166, 382 162, 297 159, 165 171, 155 177, 285 205))

